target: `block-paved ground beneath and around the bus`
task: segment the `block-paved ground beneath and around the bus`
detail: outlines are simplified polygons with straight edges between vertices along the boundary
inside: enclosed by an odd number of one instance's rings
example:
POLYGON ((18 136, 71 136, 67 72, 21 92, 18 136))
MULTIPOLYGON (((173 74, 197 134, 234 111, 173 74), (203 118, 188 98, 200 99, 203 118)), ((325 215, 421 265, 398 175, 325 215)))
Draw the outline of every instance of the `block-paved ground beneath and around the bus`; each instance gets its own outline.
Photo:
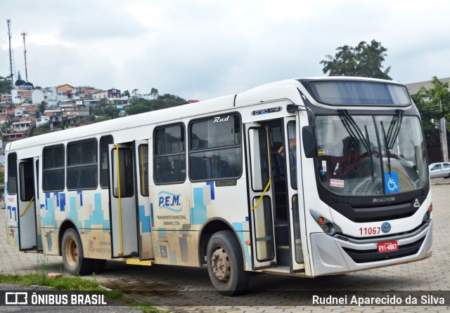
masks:
MULTIPOLYGON (((302 295, 311 291, 402 291, 403 295, 419 297, 426 291, 450 293, 450 244, 447 230, 450 220, 448 199, 450 182, 432 180, 434 252, 431 258, 406 265, 372 269, 352 274, 307 279, 269 274, 255 274, 250 292, 226 298, 214 292, 207 269, 195 267, 131 266, 120 261, 108 262, 105 271, 96 275, 103 286, 127 291, 136 299, 150 301, 173 312, 444 312, 450 307, 344 307, 299 306, 302 295), (201 305, 201 306, 200 306, 201 305)), ((5 225, 0 213, 0 225, 5 225)), ((3 228, 3 227, 1 227, 3 228)), ((48 256, 48 263, 59 272, 60 257, 48 256)), ((19 253, 6 244, 6 231, 0 230, 0 264, 3 272, 32 272, 37 265, 35 253, 19 253)), ((325 293, 327 294, 327 293, 325 293)), ((446 302, 449 305, 449 302, 446 302)))

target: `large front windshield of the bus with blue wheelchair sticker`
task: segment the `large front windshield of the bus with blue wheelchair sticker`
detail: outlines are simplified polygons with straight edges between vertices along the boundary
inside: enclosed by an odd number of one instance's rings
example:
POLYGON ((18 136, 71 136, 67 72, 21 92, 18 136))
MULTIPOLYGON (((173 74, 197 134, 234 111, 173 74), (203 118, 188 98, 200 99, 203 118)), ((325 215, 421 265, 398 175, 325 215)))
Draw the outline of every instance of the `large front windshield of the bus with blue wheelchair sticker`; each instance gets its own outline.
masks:
POLYGON ((316 116, 321 184, 335 194, 408 192, 428 180, 418 116, 316 116))

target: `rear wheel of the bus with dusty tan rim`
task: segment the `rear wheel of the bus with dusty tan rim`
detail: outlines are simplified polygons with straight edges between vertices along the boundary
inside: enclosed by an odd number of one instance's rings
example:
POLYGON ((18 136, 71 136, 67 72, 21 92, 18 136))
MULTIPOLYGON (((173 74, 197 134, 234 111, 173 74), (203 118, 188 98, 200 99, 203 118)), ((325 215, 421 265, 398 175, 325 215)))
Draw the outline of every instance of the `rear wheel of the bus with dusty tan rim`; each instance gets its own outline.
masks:
POLYGON ((73 228, 65 231, 63 236, 63 262, 70 275, 84 275, 92 272, 92 260, 83 257, 82 242, 73 228))

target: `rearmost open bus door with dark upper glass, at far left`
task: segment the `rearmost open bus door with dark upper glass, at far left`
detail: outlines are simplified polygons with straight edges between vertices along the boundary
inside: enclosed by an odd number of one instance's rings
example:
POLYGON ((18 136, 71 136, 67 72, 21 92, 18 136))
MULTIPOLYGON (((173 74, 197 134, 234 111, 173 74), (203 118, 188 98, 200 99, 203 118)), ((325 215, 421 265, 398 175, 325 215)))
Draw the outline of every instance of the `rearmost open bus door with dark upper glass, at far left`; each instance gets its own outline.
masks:
POLYGON ((37 215, 33 158, 18 160, 18 221, 20 251, 37 249, 37 215))

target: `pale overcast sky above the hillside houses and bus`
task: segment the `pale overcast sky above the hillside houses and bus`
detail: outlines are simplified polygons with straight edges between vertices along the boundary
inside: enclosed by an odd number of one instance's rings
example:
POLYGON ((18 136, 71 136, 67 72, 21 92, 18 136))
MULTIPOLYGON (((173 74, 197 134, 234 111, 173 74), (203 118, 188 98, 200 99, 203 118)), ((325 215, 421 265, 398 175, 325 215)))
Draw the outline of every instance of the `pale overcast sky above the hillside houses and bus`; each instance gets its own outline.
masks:
POLYGON ((395 81, 450 76, 450 1, 0 0, 0 76, 35 86, 157 88, 205 100, 322 76, 325 55, 375 39, 395 81))

